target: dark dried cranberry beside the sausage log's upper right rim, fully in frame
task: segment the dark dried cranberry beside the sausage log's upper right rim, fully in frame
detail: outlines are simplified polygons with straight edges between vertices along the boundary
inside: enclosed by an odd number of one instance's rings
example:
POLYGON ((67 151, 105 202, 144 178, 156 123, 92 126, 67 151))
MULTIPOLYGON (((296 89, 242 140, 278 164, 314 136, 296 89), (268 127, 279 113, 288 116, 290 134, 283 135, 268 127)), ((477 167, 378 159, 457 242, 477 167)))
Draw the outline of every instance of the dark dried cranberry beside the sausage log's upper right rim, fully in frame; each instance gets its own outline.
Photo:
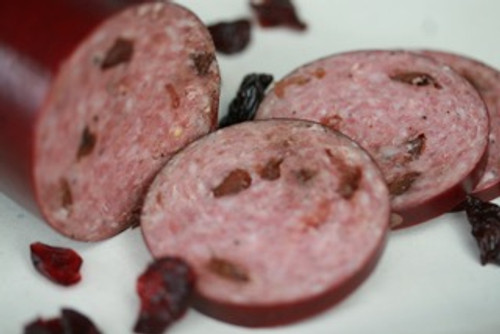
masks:
POLYGON ((224 54, 243 51, 250 42, 250 21, 240 19, 232 22, 220 22, 208 26, 215 48, 224 54))

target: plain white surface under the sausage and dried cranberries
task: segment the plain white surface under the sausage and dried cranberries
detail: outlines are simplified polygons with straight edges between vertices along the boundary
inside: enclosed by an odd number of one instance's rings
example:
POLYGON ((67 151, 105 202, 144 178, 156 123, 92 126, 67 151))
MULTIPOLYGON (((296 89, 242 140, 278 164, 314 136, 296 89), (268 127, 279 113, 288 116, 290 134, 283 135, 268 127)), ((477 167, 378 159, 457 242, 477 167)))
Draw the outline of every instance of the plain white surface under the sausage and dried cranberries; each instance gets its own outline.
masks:
MULTIPOLYGON (((179 2, 206 23, 251 14, 247 0, 179 2)), ((255 28, 245 52, 219 57, 223 110, 245 74, 267 72, 279 79, 302 63, 339 51, 440 48, 500 68, 500 1, 295 3, 307 32, 255 28)), ((7 182, 0 181, 0 189, 7 182)), ((0 194, 0 333, 20 333, 26 322, 55 316, 62 306, 89 315, 104 333, 131 333, 138 310, 135 280, 150 260, 138 229, 105 242, 74 242, 0 194), (82 282, 63 288, 38 275, 29 259, 34 241, 77 250, 84 258, 82 282)), ((189 311, 170 333, 493 334, 500 332, 499 310, 500 267, 479 265, 468 223, 455 213, 393 232, 373 275, 348 299, 310 320, 256 330, 189 311)))

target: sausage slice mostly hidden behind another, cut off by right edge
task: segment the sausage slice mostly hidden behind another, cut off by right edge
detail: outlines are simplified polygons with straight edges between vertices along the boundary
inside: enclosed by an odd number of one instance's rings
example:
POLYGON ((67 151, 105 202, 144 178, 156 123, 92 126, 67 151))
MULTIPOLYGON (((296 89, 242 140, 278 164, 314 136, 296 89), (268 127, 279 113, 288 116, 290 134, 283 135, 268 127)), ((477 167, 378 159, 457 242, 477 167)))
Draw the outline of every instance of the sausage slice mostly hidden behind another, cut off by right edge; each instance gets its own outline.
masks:
POLYGON ((437 50, 423 53, 451 66, 477 89, 488 108, 488 162, 473 194, 484 201, 500 195, 500 72, 478 60, 437 50))

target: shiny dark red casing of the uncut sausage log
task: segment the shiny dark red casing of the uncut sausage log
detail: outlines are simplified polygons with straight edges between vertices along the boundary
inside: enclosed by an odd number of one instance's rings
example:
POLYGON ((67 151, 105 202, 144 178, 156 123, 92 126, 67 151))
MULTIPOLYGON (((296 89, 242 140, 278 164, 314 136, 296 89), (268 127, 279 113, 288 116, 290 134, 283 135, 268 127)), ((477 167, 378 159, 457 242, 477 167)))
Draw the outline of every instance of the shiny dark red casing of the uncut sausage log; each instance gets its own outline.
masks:
POLYGON ((25 207, 33 122, 54 72, 99 22, 137 1, 0 2, 0 191, 25 207))

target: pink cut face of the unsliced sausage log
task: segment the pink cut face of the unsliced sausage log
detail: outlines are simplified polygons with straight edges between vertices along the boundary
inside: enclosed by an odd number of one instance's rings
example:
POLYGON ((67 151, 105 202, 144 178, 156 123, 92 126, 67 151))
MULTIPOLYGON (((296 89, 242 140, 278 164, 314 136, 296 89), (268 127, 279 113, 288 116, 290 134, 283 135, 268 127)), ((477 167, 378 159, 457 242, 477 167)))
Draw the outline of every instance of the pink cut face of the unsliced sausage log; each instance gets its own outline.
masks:
POLYGON ((99 240, 137 222, 154 175, 216 126, 205 26, 172 3, 107 19, 60 67, 37 119, 34 185, 57 231, 99 240))

